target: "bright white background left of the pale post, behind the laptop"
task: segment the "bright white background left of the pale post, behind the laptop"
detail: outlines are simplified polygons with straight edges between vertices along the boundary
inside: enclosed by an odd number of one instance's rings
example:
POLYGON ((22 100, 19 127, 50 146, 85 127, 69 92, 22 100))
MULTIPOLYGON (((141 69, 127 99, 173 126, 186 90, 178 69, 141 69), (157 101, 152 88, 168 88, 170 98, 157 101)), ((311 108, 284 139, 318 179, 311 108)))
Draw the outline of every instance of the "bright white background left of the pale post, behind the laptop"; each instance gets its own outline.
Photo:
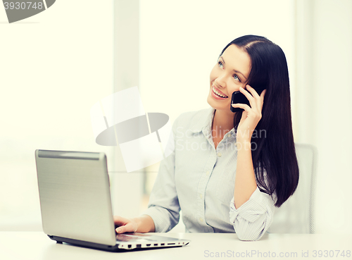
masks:
POLYGON ((113 92, 112 1, 56 1, 8 24, 0 6, 0 230, 41 230, 35 149, 106 151, 90 108, 113 92))

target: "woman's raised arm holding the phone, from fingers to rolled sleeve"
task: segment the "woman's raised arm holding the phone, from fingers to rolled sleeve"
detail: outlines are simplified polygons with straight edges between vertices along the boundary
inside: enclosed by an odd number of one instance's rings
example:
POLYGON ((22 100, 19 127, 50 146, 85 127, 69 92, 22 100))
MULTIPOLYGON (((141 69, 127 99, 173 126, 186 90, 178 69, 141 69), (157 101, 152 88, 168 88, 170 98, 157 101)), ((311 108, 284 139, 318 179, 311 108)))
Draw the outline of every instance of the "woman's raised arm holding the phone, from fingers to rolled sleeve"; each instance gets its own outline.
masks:
POLYGON ((237 171, 234 183, 234 199, 230 204, 230 221, 239 240, 259 240, 272 223, 275 200, 260 192, 256 183, 251 155, 251 137, 261 118, 265 90, 258 95, 247 85, 240 91, 249 99, 246 104, 234 104, 244 109, 237 127, 237 171))

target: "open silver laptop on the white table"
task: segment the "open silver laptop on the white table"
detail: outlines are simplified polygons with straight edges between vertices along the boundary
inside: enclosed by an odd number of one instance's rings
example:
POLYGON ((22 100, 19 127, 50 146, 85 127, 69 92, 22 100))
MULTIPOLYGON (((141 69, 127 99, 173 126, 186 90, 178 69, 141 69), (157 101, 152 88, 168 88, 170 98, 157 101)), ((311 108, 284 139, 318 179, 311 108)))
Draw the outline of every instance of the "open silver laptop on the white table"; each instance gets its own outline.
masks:
POLYGON ((52 240, 111 252, 189 244, 150 233, 115 233, 104 153, 36 150, 35 161, 43 230, 52 240))

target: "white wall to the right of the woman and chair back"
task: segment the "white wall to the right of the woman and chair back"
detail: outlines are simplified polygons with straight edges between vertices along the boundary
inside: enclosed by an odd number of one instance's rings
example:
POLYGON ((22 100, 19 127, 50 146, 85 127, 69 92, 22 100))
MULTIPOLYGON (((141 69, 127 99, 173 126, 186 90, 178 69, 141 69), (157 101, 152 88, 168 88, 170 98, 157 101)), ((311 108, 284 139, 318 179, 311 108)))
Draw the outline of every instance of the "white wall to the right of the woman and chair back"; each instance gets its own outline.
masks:
POLYGON ((352 233, 352 1, 297 1, 298 140, 318 147, 317 233, 352 233))

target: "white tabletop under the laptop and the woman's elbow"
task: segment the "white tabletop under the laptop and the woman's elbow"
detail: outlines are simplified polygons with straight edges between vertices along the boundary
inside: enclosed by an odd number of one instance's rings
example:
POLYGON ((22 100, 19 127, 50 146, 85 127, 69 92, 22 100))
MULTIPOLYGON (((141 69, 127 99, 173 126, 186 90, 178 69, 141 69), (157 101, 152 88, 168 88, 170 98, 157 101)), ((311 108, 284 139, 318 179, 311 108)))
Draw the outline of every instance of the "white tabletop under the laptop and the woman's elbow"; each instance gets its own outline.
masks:
POLYGON ((158 233, 157 235, 185 238, 191 240, 191 243, 178 248, 114 253, 65 243, 57 244, 42 232, 0 232, 0 259, 352 259, 352 235, 265 234, 256 242, 240 241, 236 234, 158 233), (319 250, 322 250, 321 257, 319 250), (325 250, 333 257, 324 257, 325 250), (337 250, 340 250, 338 257, 336 257, 337 250), (344 257, 341 256, 342 250, 344 257), (302 254, 309 257, 303 257, 302 254))

